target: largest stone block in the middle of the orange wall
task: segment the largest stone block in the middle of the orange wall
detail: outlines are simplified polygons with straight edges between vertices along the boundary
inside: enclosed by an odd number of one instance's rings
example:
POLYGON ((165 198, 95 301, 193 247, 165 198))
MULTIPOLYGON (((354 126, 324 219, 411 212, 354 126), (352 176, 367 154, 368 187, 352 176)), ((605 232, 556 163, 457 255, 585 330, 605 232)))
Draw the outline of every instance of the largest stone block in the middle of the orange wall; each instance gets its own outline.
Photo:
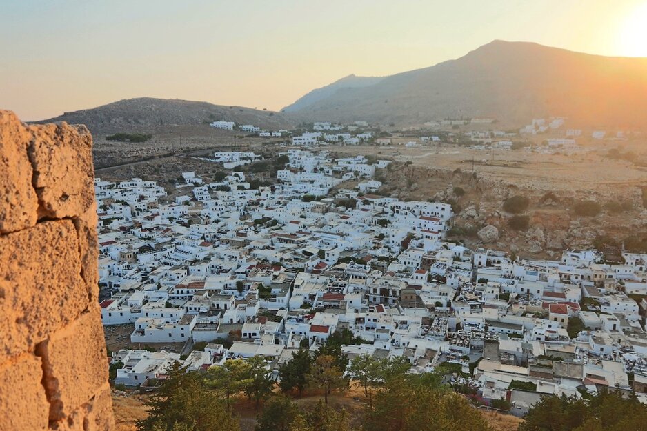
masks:
POLYGON ((0 363, 88 308, 79 240, 70 220, 0 236, 0 363))

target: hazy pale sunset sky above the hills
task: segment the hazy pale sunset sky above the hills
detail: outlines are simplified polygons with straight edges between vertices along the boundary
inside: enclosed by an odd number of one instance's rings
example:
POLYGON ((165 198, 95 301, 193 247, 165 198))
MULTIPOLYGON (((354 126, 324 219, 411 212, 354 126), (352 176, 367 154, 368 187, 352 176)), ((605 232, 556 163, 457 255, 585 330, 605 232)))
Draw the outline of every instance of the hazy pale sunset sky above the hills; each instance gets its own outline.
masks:
POLYGON ((0 108, 34 120, 148 96, 279 110, 494 39, 647 57, 647 1, 0 0, 0 108))

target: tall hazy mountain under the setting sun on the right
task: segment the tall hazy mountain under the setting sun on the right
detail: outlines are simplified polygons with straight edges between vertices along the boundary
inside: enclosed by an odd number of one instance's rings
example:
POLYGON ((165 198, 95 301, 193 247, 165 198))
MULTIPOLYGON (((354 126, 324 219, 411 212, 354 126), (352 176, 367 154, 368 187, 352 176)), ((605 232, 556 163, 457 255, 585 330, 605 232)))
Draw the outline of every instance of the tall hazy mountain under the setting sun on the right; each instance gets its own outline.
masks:
POLYGON ((546 116, 568 117, 579 126, 647 124, 647 59, 537 43, 493 41, 459 59, 369 86, 336 87, 292 112, 311 120, 399 124, 495 117, 518 126, 546 116))

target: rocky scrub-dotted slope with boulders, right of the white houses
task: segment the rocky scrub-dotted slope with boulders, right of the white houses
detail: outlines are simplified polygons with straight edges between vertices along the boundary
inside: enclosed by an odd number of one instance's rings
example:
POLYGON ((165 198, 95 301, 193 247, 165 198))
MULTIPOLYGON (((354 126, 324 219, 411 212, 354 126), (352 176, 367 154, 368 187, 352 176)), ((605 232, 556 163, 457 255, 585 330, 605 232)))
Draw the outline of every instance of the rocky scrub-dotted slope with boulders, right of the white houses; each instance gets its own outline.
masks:
POLYGON ((604 245, 613 252, 628 237, 643 241, 644 246, 647 238, 647 210, 644 191, 639 187, 613 194, 553 192, 538 186, 519 188, 478 174, 472 177, 460 170, 404 163, 379 170, 377 178, 384 182, 381 194, 451 203, 457 217, 449 237, 470 246, 484 244, 521 257, 546 258, 556 257, 564 248, 604 245), (504 206, 506 199, 514 196, 528 199, 526 208, 517 214, 504 206), (575 208, 584 201, 597 203, 599 212, 593 216, 578 214, 575 208))

